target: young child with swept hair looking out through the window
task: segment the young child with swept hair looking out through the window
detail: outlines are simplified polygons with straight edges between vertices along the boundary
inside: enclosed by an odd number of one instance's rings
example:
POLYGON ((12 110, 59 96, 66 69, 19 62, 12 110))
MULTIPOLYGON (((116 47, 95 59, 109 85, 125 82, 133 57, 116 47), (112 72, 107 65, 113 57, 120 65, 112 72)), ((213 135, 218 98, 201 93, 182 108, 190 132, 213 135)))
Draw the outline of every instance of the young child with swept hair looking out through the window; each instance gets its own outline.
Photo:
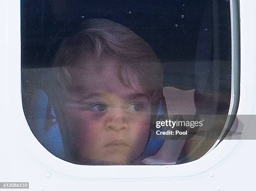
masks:
POLYGON ((123 25, 86 20, 54 58, 54 105, 67 160, 131 164, 144 151, 162 96, 151 47, 123 25))

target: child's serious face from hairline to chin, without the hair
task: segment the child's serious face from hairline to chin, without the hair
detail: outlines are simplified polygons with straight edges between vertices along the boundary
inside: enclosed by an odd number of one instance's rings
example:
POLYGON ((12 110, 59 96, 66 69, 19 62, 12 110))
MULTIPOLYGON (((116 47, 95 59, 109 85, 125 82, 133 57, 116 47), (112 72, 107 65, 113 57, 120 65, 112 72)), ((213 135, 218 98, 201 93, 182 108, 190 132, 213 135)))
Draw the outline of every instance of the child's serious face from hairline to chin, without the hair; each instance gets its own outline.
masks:
MULTIPOLYGON (((120 83, 115 60, 78 60, 69 67, 71 96, 64 117, 75 158, 81 163, 126 164, 143 152, 151 120, 149 95, 136 81, 120 83)), ((132 74, 131 74, 132 75, 132 74)))

